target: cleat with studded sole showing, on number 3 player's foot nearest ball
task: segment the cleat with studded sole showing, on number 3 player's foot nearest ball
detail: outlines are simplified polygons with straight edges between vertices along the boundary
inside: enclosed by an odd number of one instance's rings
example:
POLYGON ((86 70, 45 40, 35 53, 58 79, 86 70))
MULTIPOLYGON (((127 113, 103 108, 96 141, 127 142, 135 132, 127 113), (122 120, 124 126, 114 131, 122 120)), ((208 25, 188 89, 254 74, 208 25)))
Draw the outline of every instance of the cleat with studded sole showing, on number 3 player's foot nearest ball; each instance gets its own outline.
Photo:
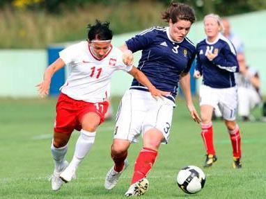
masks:
POLYGON ((125 192, 125 196, 142 196, 148 190, 149 182, 146 178, 142 178, 138 182, 130 185, 130 188, 125 192))

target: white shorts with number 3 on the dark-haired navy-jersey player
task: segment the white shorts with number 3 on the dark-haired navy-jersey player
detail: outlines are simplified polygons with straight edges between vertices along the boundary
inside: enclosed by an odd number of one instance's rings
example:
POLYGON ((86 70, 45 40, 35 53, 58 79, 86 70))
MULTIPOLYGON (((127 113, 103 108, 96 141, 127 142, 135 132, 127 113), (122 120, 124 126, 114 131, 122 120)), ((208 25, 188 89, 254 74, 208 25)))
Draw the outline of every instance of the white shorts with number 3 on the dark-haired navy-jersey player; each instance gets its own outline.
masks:
POLYGON ((150 92, 130 89, 125 92, 116 115, 114 139, 127 139, 137 142, 139 135, 157 128, 164 135, 162 143, 169 140, 173 107, 168 98, 152 98, 150 92))

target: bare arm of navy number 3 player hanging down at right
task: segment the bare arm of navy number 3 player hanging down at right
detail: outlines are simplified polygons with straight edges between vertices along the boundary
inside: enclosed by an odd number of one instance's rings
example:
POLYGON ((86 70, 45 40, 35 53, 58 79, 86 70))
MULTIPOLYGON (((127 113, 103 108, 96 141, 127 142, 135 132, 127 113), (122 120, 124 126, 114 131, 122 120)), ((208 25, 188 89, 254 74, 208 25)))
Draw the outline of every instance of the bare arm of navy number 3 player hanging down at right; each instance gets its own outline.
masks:
POLYGON ((193 105, 192 97, 191 97, 191 91, 190 91, 190 74, 188 73, 182 73, 180 75, 180 86, 182 88, 182 92, 185 95, 186 101, 187 101, 187 108, 189 109, 189 112, 191 114, 191 117, 196 121, 197 123, 201 122, 201 118, 198 116, 198 113, 196 112, 196 109, 193 105))

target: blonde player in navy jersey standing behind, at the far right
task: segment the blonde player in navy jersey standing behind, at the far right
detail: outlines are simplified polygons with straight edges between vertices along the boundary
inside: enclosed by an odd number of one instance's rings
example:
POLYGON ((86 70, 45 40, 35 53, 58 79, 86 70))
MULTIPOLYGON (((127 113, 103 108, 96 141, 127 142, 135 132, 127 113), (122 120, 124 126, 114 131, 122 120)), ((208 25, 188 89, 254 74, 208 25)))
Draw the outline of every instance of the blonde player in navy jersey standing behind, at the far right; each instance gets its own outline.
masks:
POLYGON ((196 46, 197 63, 194 77, 203 76, 200 89, 201 136, 206 149, 204 167, 217 161, 213 145, 212 111, 217 105, 233 146, 233 168, 241 168, 240 128, 235 121, 237 110, 237 87, 234 73, 239 71, 233 44, 221 35, 222 25, 218 15, 210 14, 204 18, 207 38, 196 46))

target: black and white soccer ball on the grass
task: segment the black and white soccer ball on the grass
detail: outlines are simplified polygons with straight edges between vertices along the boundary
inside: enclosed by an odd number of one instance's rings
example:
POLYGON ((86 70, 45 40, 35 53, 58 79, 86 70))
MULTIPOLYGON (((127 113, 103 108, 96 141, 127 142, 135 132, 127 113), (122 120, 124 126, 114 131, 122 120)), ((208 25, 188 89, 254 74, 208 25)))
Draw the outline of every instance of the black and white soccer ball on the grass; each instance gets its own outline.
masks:
POLYGON ((203 189, 206 178, 198 166, 186 166, 178 172, 176 182, 185 193, 194 194, 203 189))

